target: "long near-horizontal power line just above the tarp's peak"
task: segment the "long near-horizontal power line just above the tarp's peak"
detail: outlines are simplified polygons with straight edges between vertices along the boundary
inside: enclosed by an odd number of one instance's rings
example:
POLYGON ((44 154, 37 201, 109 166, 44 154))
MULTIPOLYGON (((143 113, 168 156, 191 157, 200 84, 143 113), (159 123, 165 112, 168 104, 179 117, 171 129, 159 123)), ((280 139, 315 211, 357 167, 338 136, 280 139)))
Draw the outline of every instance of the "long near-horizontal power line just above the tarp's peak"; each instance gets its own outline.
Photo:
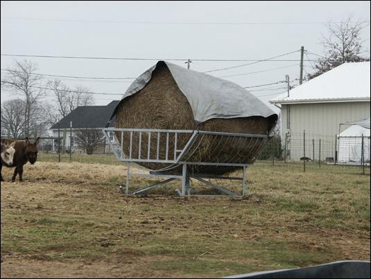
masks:
MULTIPOLYGON (((287 55, 287 54, 290 54, 290 53, 286 53, 284 55, 287 55)), ((95 59, 95 60, 148 60, 148 61, 159 61, 159 60, 188 61, 189 59, 189 58, 117 58, 117 57, 98 57, 98 56, 35 56, 35 55, 28 55, 28 54, 9 54, 9 53, 1 53, 1 56, 35 57, 35 58, 95 59)), ((276 56, 276 57, 281 57, 281 56, 276 56)), ((274 61, 274 62, 300 61, 297 59, 282 60, 282 59, 274 59, 274 58, 267 58, 264 60, 257 60, 257 59, 191 59, 191 60, 192 61, 207 61, 207 62, 253 62, 250 64, 255 64, 256 62, 265 62, 265 61, 268 61, 268 62, 270 61, 274 61)), ((316 61, 316 60, 313 60, 313 61, 316 61)), ((246 64, 246 65, 250 65, 250 64, 246 64)), ((245 65, 239 65, 239 66, 230 67, 226 69, 232 69, 232 68, 242 67, 242 66, 245 66, 245 65)), ((216 71, 216 70, 212 70, 212 71, 216 71)), ((209 71, 204 71, 204 73, 207 73, 207 72, 209 71)))

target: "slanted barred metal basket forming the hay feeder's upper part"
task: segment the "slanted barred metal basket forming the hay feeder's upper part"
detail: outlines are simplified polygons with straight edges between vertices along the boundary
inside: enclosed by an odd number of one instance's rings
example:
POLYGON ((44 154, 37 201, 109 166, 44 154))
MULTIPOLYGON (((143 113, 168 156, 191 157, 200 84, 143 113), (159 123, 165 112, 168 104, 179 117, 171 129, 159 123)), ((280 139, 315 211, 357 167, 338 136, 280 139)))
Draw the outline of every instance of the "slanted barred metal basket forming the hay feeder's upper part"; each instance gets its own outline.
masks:
MULTIPOLYGON (((210 132, 203 130, 164 130, 139 128, 103 128, 114 133, 115 143, 108 141, 118 160, 123 162, 146 162, 166 164, 203 164, 209 166, 246 165, 252 152, 260 149, 267 135, 210 132), (183 139, 180 142, 179 138, 183 139), (184 135, 186 140, 184 140, 184 135), (212 146, 207 160, 200 160, 198 149, 212 146), (145 146, 145 148, 143 148, 145 146), (232 146, 232 148, 230 147, 232 146), (248 153, 240 154, 239 146, 249 146, 248 153), (219 154, 225 149, 231 152, 223 158, 219 154), (145 152, 144 152, 145 151, 145 152)), ((205 159, 205 158, 204 158, 205 159)))

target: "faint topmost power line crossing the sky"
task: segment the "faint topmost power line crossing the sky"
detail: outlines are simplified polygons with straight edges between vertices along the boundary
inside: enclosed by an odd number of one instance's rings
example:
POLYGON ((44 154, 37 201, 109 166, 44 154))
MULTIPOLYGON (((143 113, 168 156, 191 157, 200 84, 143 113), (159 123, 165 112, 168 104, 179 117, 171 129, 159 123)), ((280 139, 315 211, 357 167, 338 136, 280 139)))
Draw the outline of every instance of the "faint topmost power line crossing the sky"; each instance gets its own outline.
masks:
MULTIPOLYGON (((20 20, 35 20, 35 21, 50 21, 50 22, 94 22, 94 23, 115 23, 115 24, 175 24, 175 25, 297 25, 297 24, 340 24, 341 22, 123 22, 116 20, 89 20, 89 19, 48 19, 35 17, 1 17, 1 19, 20 19, 20 20)), ((368 23, 366 21, 364 23, 368 23)), ((354 22, 361 23, 361 22, 354 22)))

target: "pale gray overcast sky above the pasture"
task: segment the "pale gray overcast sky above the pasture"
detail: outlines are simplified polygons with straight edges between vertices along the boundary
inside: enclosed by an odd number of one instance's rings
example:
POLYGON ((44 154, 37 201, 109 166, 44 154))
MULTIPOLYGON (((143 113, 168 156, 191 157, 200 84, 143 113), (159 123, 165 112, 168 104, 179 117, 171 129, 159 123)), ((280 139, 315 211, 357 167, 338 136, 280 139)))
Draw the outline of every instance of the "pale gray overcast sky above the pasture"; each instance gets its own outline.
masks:
MULTIPOLYGON (((340 22, 350 14, 355 21, 369 22, 370 1, 1 1, 1 53, 177 58, 184 61, 170 62, 182 67, 187 67, 184 62, 188 58, 264 60, 299 50, 301 46, 322 55, 321 34, 327 34, 324 22, 340 22)), ((363 51, 370 51, 370 24, 362 39, 363 51)), ((1 69, 11 66, 15 59, 23 58, 1 56, 1 69)), ((156 62, 28 59, 37 62, 41 74, 107 78, 137 77, 156 62)), ((300 52, 279 59, 300 60, 300 52)), ((191 69, 208 71, 245 63, 248 62, 193 61, 191 69)), ((304 71, 313 71, 310 62, 304 62, 304 66, 304 71)), ((270 61, 210 74, 245 74, 225 79, 248 87, 282 81, 286 74, 294 80, 299 78, 300 68, 298 61, 270 61)), ((119 94, 132 81, 60 79, 70 87, 80 84, 92 92, 119 94)), ((285 91, 282 87, 284 84, 254 87, 257 91, 251 92, 268 102, 285 91)), ((1 101, 14 97, 1 90, 1 101)), ((94 95, 94 98, 97 105, 105 105, 120 96, 94 95)))

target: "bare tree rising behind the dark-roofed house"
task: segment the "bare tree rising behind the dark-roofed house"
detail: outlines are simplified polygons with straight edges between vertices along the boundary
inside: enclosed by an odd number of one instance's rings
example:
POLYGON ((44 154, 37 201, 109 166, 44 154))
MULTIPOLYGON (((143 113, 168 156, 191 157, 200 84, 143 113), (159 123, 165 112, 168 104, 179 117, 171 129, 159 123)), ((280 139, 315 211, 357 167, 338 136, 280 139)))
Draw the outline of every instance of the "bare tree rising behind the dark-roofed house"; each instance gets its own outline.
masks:
POLYGON ((54 81, 49 81, 47 87, 52 90, 55 95, 55 103, 60 118, 66 117, 72 110, 80 105, 94 104, 93 95, 89 93, 87 88, 81 85, 76 85, 74 90, 71 90, 60 80, 55 79, 54 81))

